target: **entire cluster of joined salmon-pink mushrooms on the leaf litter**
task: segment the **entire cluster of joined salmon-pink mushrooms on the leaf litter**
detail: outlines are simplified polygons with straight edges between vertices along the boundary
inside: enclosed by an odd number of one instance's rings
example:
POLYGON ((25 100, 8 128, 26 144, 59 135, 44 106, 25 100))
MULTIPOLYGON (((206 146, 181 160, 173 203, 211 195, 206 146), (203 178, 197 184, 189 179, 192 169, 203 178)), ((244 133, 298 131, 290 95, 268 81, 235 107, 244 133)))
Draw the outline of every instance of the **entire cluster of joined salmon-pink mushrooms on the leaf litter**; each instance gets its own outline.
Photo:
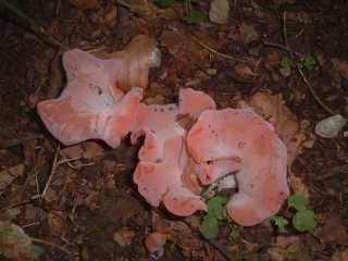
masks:
POLYGON ((251 226, 275 214, 289 189, 286 148, 273 126, 250 109, 216 110, 211 97, 189 88, 178 104, 142 103, 158 53, 146 36, 111 59, 65 52, 67 85, 38 103, 42 122, 67 146, 102 139, 116 148, 127 134, 133 144, 144 136, 134 182, 151 206, 162 202, 175 215, 207 211, 201 188, 231 173, 238 191, 226 208, 235 222, 251 226), (188 129, 178 123, 183 115, 194 121, 188 129))

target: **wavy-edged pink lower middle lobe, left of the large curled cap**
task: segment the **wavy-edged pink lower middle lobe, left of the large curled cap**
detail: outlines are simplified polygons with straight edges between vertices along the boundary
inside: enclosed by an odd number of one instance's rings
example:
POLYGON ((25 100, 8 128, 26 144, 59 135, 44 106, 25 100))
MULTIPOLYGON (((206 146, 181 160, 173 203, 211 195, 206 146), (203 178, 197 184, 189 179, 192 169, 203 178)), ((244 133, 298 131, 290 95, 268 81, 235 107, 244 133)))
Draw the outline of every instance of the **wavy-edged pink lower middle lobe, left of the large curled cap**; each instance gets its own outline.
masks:
POLYGON ((164 141, 162 160, 140 161, 134 173, 134 182, 147 201, 158 207, 163 201, 165 208, 176 215, 190 215, 206 210, 199 196, 183 186, 182 174, 188 157, 181 136, 164 141))

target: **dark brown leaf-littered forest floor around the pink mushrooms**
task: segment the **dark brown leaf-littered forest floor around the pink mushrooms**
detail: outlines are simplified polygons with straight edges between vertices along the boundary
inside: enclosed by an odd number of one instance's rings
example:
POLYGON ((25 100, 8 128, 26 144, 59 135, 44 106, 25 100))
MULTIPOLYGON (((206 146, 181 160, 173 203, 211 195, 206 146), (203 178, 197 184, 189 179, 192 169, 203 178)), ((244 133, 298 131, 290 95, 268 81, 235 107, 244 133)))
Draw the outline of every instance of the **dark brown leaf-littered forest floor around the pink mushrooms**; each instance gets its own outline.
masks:
POLYGON ((348 128, 334 138, 314 132, 332 114, 348 116, 346 1, 231 0, 224 24, 209 20, 203 0, 11 1, 32 26, 1 3, 1 260, 150 260, 144 239, 153 227, 170 234, 159 260, 348 260, 348 128), (139 34, 162 53, 146 90, 154 103, 177 102, 183 87, 203 90, 217 108, 278 95, 263 102, 276 122, 293 121, 300 132, 301 140, 290 133, 289 182, 291 194, 310 200, 313 229, 299 232, 285 206, 285 232, 270 220, 231 223, 206 239, 202 213, 173 216, 138 194, 132 175, 139 146, 65 147, 50 135, 36 104, 64 88, 62 53, 122 50, 139 34))

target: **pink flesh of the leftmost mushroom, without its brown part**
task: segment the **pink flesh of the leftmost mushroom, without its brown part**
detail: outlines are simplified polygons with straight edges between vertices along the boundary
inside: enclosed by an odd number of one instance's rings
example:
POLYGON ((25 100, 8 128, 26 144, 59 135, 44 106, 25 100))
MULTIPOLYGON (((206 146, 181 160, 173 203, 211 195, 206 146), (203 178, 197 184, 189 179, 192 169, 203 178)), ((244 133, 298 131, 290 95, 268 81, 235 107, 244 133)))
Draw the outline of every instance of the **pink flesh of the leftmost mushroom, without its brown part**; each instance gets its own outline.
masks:
POLYGON ((141 90, 134 88, 123 97, 111 77, 119 70, 116 62, 74 49, 63 55, 63 64, 67 86, 58 99, 38 104, 45 125, 65 145, 100 138, 117 147, 134 124, 141 90))

